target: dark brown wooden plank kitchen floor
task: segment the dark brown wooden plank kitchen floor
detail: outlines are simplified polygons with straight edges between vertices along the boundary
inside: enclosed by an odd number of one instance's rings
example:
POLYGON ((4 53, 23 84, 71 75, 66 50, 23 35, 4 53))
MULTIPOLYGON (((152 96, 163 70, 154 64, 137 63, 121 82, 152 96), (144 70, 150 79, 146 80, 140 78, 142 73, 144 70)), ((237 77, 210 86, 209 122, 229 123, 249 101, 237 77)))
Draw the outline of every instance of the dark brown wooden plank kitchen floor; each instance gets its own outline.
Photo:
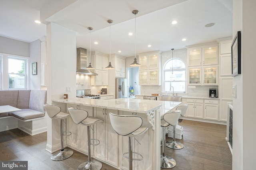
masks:
MULTIPOLYGON (((232 170, 232 155, 225 141, 226 126, 183 120, 184 149, 166 149, 177 165, 172 170, 232 170)), ((50 159, 46 148, 47 133, 30 136, 13 129, 0 132, 0 160, 28 160, 29 170, 76 170, 87 156, 74 151, 62 161, 50 159)), ((172 138, 166 138, 172 140, 172 138)), ((116 170, 103 164, 102 170, 116 170)), ((161 170, 166 170, 162 169, 161 170)))

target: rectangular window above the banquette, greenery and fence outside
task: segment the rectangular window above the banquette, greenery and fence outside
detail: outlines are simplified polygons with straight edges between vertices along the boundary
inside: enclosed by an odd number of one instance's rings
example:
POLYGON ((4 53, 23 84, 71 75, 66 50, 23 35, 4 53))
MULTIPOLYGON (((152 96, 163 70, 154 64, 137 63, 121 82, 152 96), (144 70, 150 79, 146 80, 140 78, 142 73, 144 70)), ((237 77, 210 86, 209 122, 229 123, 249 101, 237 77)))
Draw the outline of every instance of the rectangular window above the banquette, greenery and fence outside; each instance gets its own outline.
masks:
POLYGON ((27 59, 8 56, 8 88, 27 88, 27 59))

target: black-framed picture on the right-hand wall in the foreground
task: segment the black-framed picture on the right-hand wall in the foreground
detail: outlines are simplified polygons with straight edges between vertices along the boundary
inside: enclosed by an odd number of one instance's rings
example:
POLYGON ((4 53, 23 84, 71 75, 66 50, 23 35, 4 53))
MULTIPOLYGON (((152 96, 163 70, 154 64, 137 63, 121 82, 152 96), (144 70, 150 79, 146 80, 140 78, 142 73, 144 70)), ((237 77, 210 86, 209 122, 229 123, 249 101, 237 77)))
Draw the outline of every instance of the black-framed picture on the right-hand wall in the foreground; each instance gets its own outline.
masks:
POLYGON ((231 45, 232 77, 241 74, 241 31, 236 33, 231 45))

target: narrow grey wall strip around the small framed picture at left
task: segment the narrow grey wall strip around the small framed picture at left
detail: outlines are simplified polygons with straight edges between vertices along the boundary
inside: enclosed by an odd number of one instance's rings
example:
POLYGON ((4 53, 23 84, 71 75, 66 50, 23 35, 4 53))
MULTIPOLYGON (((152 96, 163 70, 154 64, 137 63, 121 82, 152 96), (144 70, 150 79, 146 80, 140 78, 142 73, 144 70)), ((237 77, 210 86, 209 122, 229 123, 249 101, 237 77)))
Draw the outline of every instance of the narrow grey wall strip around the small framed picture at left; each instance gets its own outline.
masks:
POLYGON ((40 39, 29 43, 30 51, 30 89, 41 89, 41 41, 40 39), (32 75, 32 63, 37 62, 37 75, 32 75))

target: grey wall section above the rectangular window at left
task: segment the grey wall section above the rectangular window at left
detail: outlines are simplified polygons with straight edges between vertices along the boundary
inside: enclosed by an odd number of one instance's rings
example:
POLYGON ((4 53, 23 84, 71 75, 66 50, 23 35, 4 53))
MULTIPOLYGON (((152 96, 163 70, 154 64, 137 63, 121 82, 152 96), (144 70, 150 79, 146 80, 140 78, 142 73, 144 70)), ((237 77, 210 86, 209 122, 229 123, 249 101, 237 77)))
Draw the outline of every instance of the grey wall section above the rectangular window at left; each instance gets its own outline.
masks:
POLYGON ((0 53, 29 57, 29 43, 0 36, 0 53))

